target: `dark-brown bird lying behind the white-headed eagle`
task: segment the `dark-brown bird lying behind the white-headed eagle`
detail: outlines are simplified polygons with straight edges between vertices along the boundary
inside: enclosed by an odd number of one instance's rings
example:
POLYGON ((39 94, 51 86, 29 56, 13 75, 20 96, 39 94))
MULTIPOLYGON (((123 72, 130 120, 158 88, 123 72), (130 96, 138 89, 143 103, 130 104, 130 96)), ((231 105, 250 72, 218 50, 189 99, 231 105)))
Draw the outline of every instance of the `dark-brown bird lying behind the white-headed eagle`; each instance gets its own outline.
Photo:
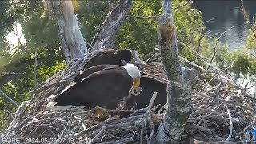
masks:
POLYGON ((109 50, 104 50, 102 52, 98 52, 98 54, 90 58, 86 63, 86 65, 83 67, 83 70, 91 66, 103 65, 103 64, 123 66, 126 63, 130 63, 130 61, 131 61, 130 50, 109 49, 109 50))

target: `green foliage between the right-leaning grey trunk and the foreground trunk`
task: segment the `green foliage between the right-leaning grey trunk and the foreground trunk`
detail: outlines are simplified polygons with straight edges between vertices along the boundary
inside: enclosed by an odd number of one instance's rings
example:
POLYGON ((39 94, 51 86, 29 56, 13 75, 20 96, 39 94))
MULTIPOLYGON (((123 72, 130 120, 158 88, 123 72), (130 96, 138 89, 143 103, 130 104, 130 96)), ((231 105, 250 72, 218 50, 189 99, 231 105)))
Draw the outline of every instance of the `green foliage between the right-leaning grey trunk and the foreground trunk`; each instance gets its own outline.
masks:
POLYGON ((120 48, 131 48, 140 53, 154 52, 158 44, 157 19, 141 20, 136 16, 149 17, 160 14, 161 1, 134 1, 128 20, 122 24, 116 38, 120 48))

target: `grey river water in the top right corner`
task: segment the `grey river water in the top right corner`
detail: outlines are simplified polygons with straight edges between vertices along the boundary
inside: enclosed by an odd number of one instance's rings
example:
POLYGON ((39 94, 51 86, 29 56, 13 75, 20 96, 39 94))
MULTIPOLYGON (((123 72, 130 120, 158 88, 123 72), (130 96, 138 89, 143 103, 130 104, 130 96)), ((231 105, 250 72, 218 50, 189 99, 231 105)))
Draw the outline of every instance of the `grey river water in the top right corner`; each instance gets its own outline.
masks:
MULTIPOLYGON (((243 26, 234 27, 228 30, 221 39, 222 43, 225 43, 230 50, 240 50, 246 45, 246 37, 249 34, 249 26, 246 24, 244 14, 241 12, 241 2, 237 0, 225 1, 203 1, 194 0, 193 5, 196 9, 202 12, 202 18, 204 21, 216 18, 210 22, 206 22, 205 26, 207 30, 210 30, 210 35, 214 35, 217 38, 222 32, 229 29, 232 26, 243 26)), ((253 21, 253 16, 256 14, 256 0, 245 1, 244 7, 250 18, 250 22, 253 21)))

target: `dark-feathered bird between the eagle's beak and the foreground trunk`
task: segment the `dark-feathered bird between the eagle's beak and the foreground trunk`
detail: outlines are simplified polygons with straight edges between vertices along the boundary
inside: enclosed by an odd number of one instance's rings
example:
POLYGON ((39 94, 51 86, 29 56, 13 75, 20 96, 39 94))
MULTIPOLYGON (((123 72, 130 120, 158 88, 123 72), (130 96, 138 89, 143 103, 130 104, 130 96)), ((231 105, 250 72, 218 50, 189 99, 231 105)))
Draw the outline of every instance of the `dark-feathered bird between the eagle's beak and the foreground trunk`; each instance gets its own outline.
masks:
POLYGON ((158 81, 154 78, 150 78, 147 76, 143 76, 140 81, 140 87, 142 88, 142 91, 140 94, 135 98, 135 101, 137 103, 136 108, 141 109, 145 108, 146 105, 150 103, 150 99, 152 95, 154 94, 154 91, 158 92, 157 98, 154 100, 154 105, 161 104, 162 106, 166 104, 167 102, 167 92, 166 87, 167 84, 161 81, 158 81))

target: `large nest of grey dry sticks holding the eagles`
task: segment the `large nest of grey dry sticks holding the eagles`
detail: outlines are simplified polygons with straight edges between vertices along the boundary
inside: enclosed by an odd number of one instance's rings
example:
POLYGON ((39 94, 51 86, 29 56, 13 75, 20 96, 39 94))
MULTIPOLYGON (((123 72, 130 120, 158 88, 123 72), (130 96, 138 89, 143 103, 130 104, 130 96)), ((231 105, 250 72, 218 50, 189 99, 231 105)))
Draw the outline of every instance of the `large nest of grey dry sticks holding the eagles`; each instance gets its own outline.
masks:
MULTIPOLYGON (((137 52, 134 55, 134 64, 149 77, 186 89, 168 81, 157 63, 147 65, 137 52)), ((72 66, 31 91, 33 98, 30 102, 22 102, 2 138, 17 138, 27 143, 150 143, 166 109, 166 106, 153 107, 157 93, 152 95, 149 106, 140 110, 106 110, 100 107, 91 110, 73 108, 64 112, 46 110, 46 98, 68 86, 87 59, 77 59, 72 66), (99 120, 94 114, 97 109, 112 117, 99 120)), ((210 81, 217 84, 198 82, 197 88, 190 90, 193 109, 180 143, 243 143, 245 132, 255 129, 256 99, 221 72, 214 74, 210 81)))

